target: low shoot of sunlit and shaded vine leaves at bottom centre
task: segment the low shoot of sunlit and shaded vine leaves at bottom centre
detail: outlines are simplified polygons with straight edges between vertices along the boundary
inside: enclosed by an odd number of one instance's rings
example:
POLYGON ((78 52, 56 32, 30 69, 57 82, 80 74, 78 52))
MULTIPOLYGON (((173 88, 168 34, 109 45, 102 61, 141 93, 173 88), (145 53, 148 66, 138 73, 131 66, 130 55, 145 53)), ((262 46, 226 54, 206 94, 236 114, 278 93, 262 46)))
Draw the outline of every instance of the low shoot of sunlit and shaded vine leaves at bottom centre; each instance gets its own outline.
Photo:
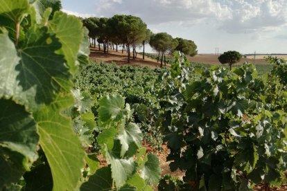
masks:
POLYGON ((81 190, 144 190, 150 183, 156 185, 160 176, 158 159, 140 152, 141 131, 130 122, 132 110, 128 104, 125 105, 125 100, 121 96, 104 96, 99 100, 98 115, 102 130, 98 143, 103 148, 102 153, 108 166, 97 170, 87 183, 82 184, 81 190), (105 113, 109 118, 101 117, 105 113), (138 151, 140 155, 137 155, 138 151), (136 155, 137 160, 134 160, 136 155), (141 157, 146 157, 147 160, 139 163, 141 157), (141 171, 142 178, 139 176, 141 171), (105 177, 105 183, 98 177, 105 177))

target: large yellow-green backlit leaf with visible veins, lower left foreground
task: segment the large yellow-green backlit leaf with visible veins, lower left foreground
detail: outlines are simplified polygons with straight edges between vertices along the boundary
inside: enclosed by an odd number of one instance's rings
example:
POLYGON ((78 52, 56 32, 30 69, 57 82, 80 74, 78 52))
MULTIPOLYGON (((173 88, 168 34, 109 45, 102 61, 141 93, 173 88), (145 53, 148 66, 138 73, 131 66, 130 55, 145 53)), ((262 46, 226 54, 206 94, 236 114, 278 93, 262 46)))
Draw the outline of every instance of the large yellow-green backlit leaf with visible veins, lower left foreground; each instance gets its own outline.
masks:
MULTIPOLYGON (((61 100, 56 100, 56 104, 58 102, 61 100)), ((74 190, 85 155, 80 140, 73 133, 71 120, 61 116, 53 104, 42 107, 33 116, 38 124, 40 145, 51 167, 53 190, 74 190)))

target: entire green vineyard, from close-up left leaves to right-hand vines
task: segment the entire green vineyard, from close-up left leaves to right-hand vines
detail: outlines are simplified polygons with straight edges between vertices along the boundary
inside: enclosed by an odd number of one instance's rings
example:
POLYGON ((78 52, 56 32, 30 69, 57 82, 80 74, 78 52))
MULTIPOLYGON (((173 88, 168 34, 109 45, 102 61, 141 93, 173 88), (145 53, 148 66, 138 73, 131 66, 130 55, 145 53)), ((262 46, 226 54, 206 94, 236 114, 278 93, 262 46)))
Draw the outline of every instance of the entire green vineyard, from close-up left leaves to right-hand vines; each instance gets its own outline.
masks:
POLYGON ((87 29, 55 2, 0 0, 0 190, 286 183, 285 60, 267 57, 272 69, 260 75, 179 52, 170 69, 89 62, 87 29), (161 176, 146 145, 163 144, 183 177, 161 176))

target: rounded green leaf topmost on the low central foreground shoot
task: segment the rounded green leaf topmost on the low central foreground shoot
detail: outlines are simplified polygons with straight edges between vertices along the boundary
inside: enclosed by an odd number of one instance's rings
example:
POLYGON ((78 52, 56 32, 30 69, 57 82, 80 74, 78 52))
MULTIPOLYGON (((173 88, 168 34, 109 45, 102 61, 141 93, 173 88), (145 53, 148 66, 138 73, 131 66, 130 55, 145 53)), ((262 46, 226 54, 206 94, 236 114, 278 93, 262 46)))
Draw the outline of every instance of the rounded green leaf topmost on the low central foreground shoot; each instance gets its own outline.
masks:
POLYGON ((125 114, 125 99, 118 95, 107 95, 99 100, 98 117, 102 122, 119 121, 125 114))

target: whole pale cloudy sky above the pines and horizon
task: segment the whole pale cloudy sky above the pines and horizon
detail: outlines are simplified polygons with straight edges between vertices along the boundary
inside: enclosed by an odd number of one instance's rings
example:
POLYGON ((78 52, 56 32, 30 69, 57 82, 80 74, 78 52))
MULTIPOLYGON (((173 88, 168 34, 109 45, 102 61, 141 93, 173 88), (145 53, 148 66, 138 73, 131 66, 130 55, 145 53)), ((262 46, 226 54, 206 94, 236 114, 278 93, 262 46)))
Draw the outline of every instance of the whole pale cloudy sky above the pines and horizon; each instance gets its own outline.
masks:
POLYGON ((198 53, 287 53, 287 0, 62 0, 62 10, 134 15, 153 33, 193 40, 198 53))

